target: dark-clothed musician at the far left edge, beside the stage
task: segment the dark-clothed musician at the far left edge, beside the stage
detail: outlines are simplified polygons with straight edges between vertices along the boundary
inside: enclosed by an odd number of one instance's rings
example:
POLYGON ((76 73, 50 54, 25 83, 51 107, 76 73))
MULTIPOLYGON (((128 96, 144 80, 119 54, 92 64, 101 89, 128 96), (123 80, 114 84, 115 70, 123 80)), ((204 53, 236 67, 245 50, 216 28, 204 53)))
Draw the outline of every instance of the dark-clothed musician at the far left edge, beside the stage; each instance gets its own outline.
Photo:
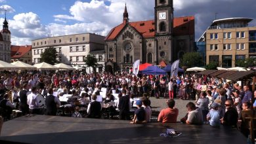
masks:
POLYGON ((7 119, 11 119, 12 109, 14 109, 14 105, 9 99, 9 94, 5 94, 3 96, 3 100, 0 101, 0 107, 2 111, 3 117, 6 117, 7 119))

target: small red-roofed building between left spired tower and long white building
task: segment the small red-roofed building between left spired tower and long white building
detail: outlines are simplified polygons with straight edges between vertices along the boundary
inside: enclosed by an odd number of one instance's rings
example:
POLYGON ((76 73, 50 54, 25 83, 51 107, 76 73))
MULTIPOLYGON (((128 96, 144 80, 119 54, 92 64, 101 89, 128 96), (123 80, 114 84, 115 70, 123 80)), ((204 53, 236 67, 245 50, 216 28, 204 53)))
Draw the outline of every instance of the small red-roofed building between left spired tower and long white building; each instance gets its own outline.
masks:
POLYGON ((32 65, 32 45, 11 46, 11 62, 24 62, 32 65))

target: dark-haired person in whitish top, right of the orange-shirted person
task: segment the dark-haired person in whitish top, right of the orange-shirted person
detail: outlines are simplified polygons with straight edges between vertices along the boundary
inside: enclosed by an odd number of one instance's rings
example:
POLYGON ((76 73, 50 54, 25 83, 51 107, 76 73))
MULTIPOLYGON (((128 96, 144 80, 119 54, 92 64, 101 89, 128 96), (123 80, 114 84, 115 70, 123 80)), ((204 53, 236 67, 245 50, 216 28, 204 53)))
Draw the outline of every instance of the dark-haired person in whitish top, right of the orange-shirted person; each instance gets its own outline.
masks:
POLYGON ((203 113, 201 109, 196 109, 196 105, 192 102, 189 102, 186 108, 188 109, 186 124, 203 124, 203 113))

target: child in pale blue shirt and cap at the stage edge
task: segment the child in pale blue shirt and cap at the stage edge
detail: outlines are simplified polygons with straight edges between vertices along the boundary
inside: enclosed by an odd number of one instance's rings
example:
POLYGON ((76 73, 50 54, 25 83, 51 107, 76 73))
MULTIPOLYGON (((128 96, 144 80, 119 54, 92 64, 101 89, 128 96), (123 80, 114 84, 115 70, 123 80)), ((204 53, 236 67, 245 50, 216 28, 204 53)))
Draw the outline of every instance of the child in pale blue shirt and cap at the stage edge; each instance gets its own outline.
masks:
POLYGON ((209 111, 207 115, 207 120, 209 120, 210 125, 214 127, 219 127, 221 125, 221 118, 219 117, 219 104, 218 103, 212 103, 211 104, 211 110, 209 111))

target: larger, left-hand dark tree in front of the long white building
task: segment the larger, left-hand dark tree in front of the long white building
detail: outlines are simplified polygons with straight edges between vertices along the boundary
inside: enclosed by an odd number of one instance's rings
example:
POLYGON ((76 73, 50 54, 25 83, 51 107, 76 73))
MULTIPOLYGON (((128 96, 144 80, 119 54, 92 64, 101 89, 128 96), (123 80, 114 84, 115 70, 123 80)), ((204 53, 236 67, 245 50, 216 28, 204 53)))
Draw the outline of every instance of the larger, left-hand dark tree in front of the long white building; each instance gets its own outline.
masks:
POLYGON ((54 47, 46 48, 45 52, 41 54, 40 62, 46 62, 54 65, 54 63, 58 63, 58 61, 56 60, 57 56, 58 54, 54 47))

